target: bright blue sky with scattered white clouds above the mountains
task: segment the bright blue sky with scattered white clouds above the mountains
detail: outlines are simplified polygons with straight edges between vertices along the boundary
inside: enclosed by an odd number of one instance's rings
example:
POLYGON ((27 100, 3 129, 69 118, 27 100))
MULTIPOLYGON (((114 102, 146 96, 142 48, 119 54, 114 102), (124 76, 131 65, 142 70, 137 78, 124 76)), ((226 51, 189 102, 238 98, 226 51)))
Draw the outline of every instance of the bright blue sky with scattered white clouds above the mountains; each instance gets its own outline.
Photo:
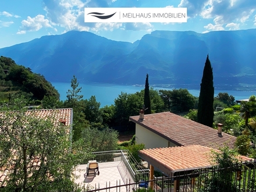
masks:
POLYGON ((256 28, 256 0, 0 0, 0 48, 70 30, 134 42, 155 30, 256 28), (84 8, 187 8, 187 23, 84 23, 84 8))

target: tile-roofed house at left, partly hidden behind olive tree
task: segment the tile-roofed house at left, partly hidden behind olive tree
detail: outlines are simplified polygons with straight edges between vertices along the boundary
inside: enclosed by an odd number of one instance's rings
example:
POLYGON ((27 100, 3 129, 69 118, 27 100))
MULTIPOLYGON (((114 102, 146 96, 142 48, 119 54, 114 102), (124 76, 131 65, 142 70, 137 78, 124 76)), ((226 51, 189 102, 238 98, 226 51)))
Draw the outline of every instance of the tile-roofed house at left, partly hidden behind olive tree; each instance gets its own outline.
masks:
MULTIPOLYGON (((73 109, 69 108, 69 109, 40 109, 40 110, 27 110, 26 112, 24 112, 25 116, 35 116, 38 119, 48 119, 51 118, 53 120, 54 125, 59 125, 59 123, 62 123, 64 126, 63 129, 65 129, 65 132, 67 135, 69 135, 69 141, 70 141, 70 149, 71 149, 71 142, 72 142, 72 123, 73 123, 73 109)), ((4 119, 5 116, 5 112, 1 112, 0 113, 1 116, 1 120, 4 119)), ((15 121, 15 118, 13 119, 13 122, 15 121)), ((12 125, 12 120, 10 120, 9 125, 12 125)), ((24 123, 23 123, 24 125, 24 123)), ((54 126, 55 127, 55 126, 54 126)), ((0 125, 0 133, 1 130, 5 129, 5 124, 4 124, 4 120, 3 122, 1 122, 0 125)), ((18 132, 19 133, 19 132, 18 132)), ((19 139, 19 135, 17 136, 17 138, 19 139)), ((15 157, 14 159, 18 159, 16 157, 18 157, 19 154, 19 150, 17 150, 17 148, 12 148, 10 149, 10 152, 12 152, 13 157, 15 157)), ((20 156, 19 156, 20 157, 20 156)), ((33 154, 31 155, 30 158, 28 158, 28 168, 27 170, 31 170, 31 169, 35 169, 38 170, 38 167, 41 164, 41 157, 38 156, 34 156, 33 154)), ((13 171, 13 167, 14 167, 14 163, 15 161, 9 161, 8 166, 6 167, 0 167, 0 187, 4 187, 6 186, 7 182, 8 182, 8 173, 10 171, 13 171)), ((51 179, 51 178, 49 178, 51 179)))

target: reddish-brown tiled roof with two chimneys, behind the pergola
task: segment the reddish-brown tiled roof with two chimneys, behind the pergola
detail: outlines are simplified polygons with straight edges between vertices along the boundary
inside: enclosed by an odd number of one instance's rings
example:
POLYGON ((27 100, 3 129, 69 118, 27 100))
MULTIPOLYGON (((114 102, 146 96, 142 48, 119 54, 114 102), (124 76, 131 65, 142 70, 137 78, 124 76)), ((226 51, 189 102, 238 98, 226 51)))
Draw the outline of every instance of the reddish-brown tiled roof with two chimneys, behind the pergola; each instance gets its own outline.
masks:
POLYGON ((130 120, 179 146, 203 145, 218 149, 227 144, 233 148, 236 141, 234 136, 223 132, 219 135, 216 129, 170 112, 144 115, 143 120, 140 116, 131 116, 130 120))

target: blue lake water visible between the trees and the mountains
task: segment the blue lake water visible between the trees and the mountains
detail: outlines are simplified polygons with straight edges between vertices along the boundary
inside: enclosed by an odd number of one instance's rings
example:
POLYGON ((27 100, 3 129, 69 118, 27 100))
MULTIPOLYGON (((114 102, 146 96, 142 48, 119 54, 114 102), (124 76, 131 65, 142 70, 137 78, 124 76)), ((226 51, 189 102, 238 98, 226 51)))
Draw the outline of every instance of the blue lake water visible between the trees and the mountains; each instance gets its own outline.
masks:
MULTIPOLYGON (((61 100, 66 100, 66 92, 69 90, 70 83, 52 83, 52 85, 59 91, 61 94, 61 100)), ((83 84, 79 83, 79 87, 82 87, 81 94, 84 95, 84 99, 89 99, 91 95, 95 95, 98 102, 101 102, 101 107, 105 105, 114 104, 115 98, 118 95, 123 93, 136 93, 144 89, 143 87, 137 86, 120 86, 116 84, 99 84, 99 83, 90 83, 83 84)), ((157 90, 172 90, 172 88, 162 88, 154 87, 157 90)), ((199 96, 200 90, 189 90, 189 92, 194 96, 199 96)), ((239 99, 248 99, 251 95, 256 95, 256 92, 253 91, 230 91, 230 90, 214 90, 215 96, 218 93, 228 93, 233 95, 236 100, 239 99)))

